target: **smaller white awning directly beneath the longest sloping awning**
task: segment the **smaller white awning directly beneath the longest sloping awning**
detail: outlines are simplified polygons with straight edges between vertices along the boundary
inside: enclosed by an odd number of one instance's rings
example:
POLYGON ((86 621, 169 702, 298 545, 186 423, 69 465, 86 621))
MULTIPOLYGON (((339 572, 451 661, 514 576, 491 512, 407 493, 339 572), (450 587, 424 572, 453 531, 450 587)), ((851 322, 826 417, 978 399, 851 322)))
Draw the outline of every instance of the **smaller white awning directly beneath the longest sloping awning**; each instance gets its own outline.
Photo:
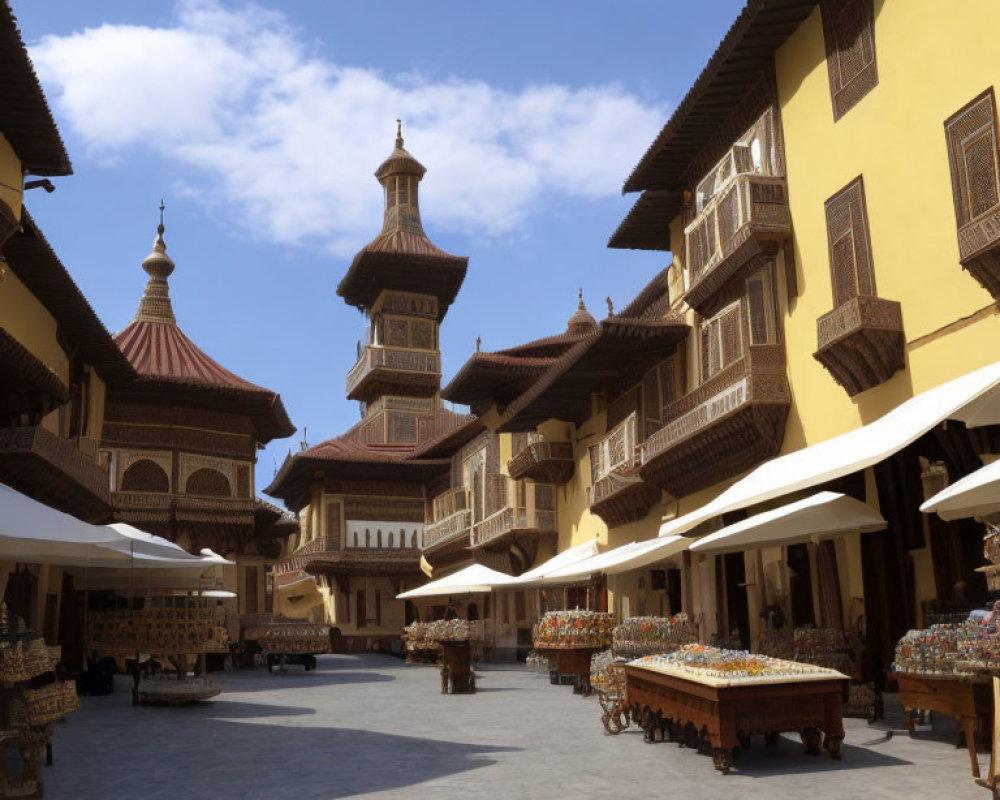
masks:
POLYGON ((845 533, 885 529, 886 521, 867 503, 837 492, 820 492, 780 508, 754 514, 698 539, 698 553, 733 553, 759 547, 819 541, 845 533))

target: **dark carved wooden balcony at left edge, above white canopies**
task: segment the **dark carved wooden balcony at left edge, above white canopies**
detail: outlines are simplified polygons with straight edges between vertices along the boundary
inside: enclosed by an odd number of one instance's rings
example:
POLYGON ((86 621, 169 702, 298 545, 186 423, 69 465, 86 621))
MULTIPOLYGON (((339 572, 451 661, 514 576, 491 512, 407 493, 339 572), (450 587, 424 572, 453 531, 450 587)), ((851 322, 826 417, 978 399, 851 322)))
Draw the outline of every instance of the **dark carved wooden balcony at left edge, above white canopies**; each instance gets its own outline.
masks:
POLYGON ((107 470, 41 426, 0 429, 0 482, 81 519, 110 519, 107 470))

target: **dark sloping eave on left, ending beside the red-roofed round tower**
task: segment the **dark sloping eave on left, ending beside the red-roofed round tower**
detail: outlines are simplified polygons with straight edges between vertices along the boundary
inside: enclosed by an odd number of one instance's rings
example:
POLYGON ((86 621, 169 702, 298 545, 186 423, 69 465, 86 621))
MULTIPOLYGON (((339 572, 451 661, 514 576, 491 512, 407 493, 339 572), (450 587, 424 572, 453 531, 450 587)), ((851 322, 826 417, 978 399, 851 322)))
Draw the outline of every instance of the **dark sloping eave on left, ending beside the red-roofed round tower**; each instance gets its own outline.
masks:
MULTIPOLYGON (((0 80, 0 83, 3 81, 0 80)), ((97 318, 87 298, 25 209, 22 230, 4 245, 7 266, 59 323, 66 338, 108 382, 129 381, 135 371, 97 318)))

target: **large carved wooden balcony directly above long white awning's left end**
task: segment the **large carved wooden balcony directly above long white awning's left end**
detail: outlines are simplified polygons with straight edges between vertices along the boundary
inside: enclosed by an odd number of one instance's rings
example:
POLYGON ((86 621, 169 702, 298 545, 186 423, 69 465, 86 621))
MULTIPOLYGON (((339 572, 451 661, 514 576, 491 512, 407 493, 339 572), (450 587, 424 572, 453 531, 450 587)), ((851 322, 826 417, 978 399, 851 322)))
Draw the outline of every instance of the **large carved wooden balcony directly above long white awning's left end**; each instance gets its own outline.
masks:
POLYGON ((639 475, 683 497, 777 455, 791 393, 783 345, 742 358, 667 406, 667 424, 642 446, 639 475))

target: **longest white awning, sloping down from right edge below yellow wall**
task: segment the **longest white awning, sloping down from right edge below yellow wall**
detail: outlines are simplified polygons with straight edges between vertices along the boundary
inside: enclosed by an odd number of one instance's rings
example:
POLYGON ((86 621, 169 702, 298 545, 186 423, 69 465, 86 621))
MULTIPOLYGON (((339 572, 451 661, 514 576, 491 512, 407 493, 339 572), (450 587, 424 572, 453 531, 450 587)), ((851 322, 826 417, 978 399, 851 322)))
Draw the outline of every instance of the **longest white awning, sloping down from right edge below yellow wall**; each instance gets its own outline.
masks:
POLYGON ((915 395, 860 428, 765 461, 710 503, 664 522, 660 536, 878 464, 946 419, 969 427, 1000 423, 1000 362, 915 395))

